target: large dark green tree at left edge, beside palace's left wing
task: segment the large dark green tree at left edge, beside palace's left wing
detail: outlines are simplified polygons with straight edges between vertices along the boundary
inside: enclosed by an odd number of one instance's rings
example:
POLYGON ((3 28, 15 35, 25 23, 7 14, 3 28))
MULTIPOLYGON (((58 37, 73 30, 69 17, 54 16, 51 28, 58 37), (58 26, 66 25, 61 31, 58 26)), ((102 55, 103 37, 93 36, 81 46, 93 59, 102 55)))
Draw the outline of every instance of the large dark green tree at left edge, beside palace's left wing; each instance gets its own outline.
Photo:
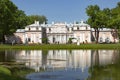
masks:
POLYGON ((10 0, 0 0, 0 42, 5 42, 5 36, 10 35, 23 24, 24 20, 21 18, 24 12, 19 10, 10 0))

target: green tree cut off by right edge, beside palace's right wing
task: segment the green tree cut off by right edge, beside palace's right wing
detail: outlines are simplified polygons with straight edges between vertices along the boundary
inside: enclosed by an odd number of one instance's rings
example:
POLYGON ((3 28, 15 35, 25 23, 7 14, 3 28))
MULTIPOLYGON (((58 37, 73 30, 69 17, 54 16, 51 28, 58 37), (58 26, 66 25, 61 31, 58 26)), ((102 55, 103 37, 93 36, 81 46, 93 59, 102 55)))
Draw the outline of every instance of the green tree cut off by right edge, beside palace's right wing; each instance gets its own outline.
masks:
POLYGON ((115 8, 111 9, 111 17, 108 24, 110 28, 114 29, 112 35, 115 43, 115 39, 118 38, 118 35, 120 36, 120 2, 115 8))

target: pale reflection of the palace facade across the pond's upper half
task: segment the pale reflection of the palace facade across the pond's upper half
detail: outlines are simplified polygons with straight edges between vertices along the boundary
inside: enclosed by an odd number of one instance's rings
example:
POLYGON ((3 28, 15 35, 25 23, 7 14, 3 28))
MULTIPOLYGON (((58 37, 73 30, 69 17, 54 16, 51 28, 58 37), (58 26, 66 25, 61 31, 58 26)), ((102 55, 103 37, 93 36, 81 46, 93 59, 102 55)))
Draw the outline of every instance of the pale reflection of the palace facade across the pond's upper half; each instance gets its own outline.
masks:
POLYGON ((39 71, 43 69, 76 69, 82 72, 94 65, 114 64, 119 52, 116 50, 5 50, 0 61, 16 61, 39 71))

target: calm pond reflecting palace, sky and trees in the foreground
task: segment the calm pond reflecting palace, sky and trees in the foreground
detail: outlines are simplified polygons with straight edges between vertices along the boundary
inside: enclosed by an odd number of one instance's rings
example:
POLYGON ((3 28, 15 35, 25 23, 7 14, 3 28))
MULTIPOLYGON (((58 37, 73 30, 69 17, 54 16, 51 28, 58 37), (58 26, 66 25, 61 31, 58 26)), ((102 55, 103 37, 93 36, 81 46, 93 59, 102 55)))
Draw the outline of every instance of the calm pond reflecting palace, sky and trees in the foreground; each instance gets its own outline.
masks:
POLYGON ((0 64, 34 69, 30 80, 119 80, 119 50, 4 50, 0 64), (15 64, 15 65, 16 65, 15 64))

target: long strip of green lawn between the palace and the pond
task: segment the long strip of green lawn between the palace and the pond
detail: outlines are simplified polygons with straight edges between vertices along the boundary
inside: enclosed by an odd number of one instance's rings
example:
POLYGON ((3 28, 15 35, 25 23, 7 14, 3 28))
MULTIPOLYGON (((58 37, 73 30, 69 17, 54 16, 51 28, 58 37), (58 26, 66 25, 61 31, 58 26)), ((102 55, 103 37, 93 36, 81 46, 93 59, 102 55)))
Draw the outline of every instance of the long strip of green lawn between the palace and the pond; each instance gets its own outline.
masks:
POLYGON ((120 49, 120 44, 41 44, 41 45, 0 45, 0 49, 120 49))

